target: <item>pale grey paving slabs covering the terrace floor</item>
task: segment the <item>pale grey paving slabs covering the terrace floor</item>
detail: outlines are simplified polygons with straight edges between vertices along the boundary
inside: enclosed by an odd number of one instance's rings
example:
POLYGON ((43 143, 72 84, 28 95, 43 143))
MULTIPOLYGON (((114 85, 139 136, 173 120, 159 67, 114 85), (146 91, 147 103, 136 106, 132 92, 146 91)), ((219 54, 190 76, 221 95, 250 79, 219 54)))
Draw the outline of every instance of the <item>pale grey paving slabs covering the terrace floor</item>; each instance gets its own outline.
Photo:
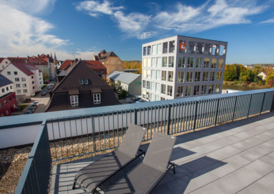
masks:
MULTIPOLYGON (((75 173, 98 157, 53 167, 50 193, 82 193, 75 173)), ((177 136, 171 161, 151 193, 274 193, 274 113, 177 136)))

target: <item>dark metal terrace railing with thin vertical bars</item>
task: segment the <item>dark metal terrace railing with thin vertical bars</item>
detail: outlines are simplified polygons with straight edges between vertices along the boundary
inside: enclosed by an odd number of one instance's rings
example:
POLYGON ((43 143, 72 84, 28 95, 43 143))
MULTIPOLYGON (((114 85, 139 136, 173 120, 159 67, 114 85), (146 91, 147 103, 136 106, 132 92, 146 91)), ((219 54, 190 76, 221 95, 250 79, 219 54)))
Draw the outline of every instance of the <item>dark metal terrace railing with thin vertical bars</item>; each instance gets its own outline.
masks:
POLYGON ((273 96, 274 89, 259 89, 119 105, 115 111, 101 107, 83 115, 71 111, 72 116, 54 119, 51 115, 42 122, 16 193, 47 193, 51 159, 60 161, 117 148, 131 122, 147 128, 147 141, 154 131, 171 135, 273 111, 273 96))

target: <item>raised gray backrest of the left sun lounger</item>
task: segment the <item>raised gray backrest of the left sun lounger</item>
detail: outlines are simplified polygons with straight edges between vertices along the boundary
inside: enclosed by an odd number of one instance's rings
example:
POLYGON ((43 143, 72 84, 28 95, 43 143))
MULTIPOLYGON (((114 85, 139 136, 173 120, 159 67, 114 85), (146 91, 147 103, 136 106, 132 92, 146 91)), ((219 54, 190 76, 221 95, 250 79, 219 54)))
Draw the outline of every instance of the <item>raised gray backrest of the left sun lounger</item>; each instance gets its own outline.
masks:
POLYGON ((118 148, 119 152, 123 152, 124 154, 134 158, 146 131, 147 130, 141 126, 129 124, 127 132, 118 148))

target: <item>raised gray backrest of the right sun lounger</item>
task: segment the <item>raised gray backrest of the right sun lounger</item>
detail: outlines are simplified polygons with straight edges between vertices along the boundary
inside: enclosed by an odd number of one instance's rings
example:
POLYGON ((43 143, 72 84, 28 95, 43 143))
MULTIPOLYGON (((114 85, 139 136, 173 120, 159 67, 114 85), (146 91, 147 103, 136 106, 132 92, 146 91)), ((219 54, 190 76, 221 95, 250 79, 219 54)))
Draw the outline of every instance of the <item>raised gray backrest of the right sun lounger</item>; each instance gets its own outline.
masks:
POLYGON ((154 169, 166 171, 175 140, 176 137, 155 131, 143 163, 154 169))

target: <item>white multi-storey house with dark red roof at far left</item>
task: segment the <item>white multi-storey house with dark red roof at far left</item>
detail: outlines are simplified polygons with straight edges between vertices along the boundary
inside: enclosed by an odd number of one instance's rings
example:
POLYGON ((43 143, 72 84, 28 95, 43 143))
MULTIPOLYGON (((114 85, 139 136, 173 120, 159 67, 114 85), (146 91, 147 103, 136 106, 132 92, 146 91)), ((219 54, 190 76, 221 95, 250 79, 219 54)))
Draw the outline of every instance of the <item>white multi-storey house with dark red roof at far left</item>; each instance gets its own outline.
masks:
POLYGON ((10 63, 1 74, 13 81, 14 92, 18 98, 34 96, 35 92, 40 91, 42 74, 32 64, 10 63))

